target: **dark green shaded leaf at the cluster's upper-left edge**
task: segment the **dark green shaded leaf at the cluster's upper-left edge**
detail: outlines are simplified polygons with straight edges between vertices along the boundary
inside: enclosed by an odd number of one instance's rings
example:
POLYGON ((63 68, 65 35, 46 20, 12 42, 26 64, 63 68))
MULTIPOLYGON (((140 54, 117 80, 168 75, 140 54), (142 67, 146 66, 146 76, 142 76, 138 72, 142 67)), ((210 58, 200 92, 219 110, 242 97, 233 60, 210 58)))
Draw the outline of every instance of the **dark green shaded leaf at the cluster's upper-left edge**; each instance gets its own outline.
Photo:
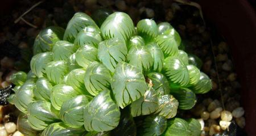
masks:
POLYGON ((38 54, 42 52, 49 52, 52 50, 52 46, 63 39, 64 29, 61 27, 47 27, 40 31, 38 36, 36 36, 33 53, 38 54))

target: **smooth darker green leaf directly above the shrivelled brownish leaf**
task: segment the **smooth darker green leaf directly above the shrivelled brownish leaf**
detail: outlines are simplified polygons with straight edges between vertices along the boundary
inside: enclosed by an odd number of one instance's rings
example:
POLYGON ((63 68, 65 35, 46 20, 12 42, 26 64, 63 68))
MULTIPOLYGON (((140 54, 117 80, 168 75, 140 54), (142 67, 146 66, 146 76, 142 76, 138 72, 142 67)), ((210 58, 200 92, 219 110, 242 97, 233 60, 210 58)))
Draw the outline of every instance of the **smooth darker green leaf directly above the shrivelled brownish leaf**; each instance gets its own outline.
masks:
POLYGON ((169 82, 161 73, 149 73, 148 78, 152 81, 153 88, 156 90, 158 96, 170 94, 169 82))

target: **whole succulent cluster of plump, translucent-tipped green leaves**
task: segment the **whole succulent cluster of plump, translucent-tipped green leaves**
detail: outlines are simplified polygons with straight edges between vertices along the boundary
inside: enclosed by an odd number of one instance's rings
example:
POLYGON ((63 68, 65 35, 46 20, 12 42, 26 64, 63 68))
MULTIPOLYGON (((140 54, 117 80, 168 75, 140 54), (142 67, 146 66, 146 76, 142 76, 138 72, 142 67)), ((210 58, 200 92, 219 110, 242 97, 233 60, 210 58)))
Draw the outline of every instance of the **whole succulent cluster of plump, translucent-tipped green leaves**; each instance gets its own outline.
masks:
POLYGON ((123 12, 97 23, 79 12, 65 30, 43 29, 31 71, 11 76, 16 86, 9 101, 24 113, 19 130, 43 136, 199 135, 199 122, 175 116, 212 85, 180 43, 169 23, 143 19, 134 27, 123 12))

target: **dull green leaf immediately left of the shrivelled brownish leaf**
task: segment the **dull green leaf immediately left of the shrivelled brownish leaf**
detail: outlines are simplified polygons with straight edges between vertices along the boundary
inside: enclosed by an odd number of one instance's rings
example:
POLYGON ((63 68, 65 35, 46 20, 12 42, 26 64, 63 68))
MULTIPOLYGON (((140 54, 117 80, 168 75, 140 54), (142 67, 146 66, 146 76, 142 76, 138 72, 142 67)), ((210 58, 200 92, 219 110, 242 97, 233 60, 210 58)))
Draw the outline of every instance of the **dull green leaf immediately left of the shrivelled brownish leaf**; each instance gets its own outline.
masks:
POLYGON ((133 117, 154 113, 158 109, 158 95, 152 87, 148 87, 144 96, 131 103, 133 117))

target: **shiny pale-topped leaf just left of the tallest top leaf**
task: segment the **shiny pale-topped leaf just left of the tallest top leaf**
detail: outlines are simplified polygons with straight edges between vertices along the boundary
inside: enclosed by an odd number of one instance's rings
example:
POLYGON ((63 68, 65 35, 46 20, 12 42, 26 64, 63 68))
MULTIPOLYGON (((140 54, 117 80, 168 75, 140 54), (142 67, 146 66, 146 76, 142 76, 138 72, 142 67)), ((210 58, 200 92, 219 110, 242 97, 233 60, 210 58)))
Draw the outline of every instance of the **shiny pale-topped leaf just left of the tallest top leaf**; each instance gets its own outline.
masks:
POLYGON ((97 48, 101 41, 100 29, 98 27, 88 26, 77 34, 74 45, 76 47, 82 47, 85 44, 90 44, 97 48))

